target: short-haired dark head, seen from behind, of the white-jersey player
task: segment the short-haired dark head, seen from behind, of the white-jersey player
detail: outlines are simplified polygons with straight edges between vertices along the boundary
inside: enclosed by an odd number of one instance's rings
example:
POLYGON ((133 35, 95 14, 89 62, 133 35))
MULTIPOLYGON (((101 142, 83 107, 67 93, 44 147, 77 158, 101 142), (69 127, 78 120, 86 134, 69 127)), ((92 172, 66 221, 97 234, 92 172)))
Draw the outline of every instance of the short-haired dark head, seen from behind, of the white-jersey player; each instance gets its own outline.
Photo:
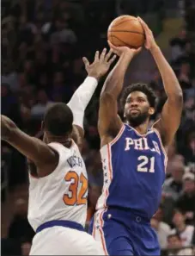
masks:
POLYGON ((73 114, 65 103, 54 103, 44 116, 46 130, 55 136, 70 134, 72 131, 73 114))

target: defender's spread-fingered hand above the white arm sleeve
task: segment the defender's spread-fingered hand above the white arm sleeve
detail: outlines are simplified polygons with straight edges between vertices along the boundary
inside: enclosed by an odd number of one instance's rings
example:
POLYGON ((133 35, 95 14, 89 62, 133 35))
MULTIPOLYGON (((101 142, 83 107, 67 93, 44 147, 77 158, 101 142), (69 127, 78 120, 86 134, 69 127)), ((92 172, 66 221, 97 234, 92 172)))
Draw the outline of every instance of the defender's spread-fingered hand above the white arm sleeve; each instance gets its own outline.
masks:
POLYGON ((103 49, 101 54, 99 53, 99 51, 97 51, 94 55, 94 62, 91 64, 89 64, 86 57, 83 57, 82 60, 85 65, 85 69, 88 72, 88 76, 94 77, 98 80, 103 77, 108 72, 114 59, 116 59, 117 57, 116 55, 113 55, 113 57, 111 58, 112 53, 112 50, 107 53, 106 48, 103 49))

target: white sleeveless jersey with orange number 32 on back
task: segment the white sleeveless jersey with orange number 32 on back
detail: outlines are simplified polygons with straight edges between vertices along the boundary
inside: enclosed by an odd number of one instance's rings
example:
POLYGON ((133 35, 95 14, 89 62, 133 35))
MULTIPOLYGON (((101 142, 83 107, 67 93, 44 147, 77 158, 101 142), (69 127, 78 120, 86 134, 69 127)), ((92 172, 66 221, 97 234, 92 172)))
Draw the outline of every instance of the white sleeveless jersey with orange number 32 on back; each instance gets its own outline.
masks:
POLYGON ((67 220, 82 224, 87 217, 88 176, 75 142, 70 148, 48 145, 58 152, 58 166, 44 178, 29 175, 28 221, 36 230, 40 224, 67 220))

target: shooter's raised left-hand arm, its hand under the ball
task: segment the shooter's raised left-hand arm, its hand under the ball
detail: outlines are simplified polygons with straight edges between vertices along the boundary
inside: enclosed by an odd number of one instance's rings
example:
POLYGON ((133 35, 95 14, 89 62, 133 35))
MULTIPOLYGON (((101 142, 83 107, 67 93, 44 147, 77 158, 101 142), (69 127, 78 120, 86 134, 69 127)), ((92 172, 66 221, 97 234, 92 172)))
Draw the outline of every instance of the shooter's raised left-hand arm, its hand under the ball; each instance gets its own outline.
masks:
POLYGON ((105 84, 101 90, 100 109, 98 129, 101 135, 102 144, 107 144, 105 137, 115 137, 119 133, 123 122, 118 116, 118 97, 122 91, 125 72, 131 62, 133 56, 140 51, 140 49, 131 49, 129 47, 114 47, 108 42, 113 49, 113 53, 119 55, 117 64, 107 76, 105 84))

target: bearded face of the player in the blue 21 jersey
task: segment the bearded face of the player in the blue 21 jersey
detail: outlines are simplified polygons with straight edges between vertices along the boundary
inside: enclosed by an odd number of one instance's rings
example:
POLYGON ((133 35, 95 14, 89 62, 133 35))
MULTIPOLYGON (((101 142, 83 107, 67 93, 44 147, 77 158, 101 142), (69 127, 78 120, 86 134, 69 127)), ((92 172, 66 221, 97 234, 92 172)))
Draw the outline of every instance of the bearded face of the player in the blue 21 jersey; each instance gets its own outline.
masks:
POLYGON ((154 113, 155 109, 149 106, 148 98, 142 91, 133 91, 126 98, 124 116, 132 127, 146 122, 154 113))

